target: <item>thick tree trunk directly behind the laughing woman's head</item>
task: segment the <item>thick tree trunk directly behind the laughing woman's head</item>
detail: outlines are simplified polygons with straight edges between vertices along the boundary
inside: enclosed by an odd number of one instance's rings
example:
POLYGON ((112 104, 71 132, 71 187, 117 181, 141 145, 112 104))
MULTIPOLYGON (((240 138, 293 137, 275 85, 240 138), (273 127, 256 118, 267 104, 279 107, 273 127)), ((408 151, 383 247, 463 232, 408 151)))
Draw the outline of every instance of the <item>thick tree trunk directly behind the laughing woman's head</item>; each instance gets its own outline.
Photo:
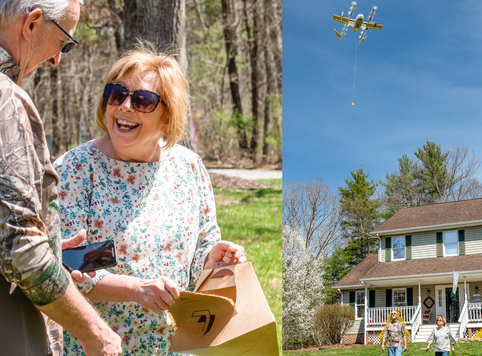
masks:
MULTIPOLYGON (((180 54, 180 64, 187 77, 185 18, 185 0, 124 1, 122 11, 124 47, 132 47, 136 39, 146 39, 166 49, 177 49, 180 54)), ((181 144, 189 149, 196 150, 191 109, 189 109, 185 132, 181 144)))

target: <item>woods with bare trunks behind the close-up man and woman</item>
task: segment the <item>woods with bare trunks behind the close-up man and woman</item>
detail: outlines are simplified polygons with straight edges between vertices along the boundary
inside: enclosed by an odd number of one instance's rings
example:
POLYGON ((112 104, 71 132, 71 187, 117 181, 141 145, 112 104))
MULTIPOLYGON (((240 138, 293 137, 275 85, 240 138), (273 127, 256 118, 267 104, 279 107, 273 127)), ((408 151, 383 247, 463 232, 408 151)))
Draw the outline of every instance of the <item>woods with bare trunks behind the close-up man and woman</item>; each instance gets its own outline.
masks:
POLYGON ((103 81, 122 50, 150 40, 178 54, 191 99, 182 143, 204 160, 281 165, 281 0, 86 0, 78 47, 27 91, 58 157, 102 133, 103 81))

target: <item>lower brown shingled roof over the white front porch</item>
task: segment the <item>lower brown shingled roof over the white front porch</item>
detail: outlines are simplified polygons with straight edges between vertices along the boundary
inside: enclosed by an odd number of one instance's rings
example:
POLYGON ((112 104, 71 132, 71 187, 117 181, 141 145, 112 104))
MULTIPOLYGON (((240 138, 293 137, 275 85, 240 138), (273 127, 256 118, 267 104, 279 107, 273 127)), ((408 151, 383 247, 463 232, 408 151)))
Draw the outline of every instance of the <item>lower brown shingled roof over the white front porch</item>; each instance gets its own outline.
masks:
POLYGON ((423 258, 391 262, 378 262, 378 254, 369 254, 358 266, 345 275, 334 287, 361 285, 360 279, 386 278, 450 273, 453 270, 480 270, 482 254, 423 258))

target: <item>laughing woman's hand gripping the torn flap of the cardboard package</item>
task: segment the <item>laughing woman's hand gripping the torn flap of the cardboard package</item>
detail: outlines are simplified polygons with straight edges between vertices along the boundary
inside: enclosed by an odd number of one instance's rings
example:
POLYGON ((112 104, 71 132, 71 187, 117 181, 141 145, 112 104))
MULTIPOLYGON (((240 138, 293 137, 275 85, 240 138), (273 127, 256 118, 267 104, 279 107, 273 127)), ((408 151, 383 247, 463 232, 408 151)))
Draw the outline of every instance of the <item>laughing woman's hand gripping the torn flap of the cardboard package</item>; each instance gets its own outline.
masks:
POLYGON ((134 284, 133 300, 153 312, 162 312, 179 298, 180 291, 169 277, 138 279, 134 284))

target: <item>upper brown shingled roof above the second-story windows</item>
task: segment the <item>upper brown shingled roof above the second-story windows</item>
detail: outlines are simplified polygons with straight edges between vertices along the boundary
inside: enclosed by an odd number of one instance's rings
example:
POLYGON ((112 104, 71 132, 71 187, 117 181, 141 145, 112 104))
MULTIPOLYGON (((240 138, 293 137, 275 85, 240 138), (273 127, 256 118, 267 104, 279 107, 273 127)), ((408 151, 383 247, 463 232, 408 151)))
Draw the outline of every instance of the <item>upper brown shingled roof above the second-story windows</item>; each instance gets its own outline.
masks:
POLYGON ((402 208, 372 233, 470 222, 482 222, 482 198, 402 208))

